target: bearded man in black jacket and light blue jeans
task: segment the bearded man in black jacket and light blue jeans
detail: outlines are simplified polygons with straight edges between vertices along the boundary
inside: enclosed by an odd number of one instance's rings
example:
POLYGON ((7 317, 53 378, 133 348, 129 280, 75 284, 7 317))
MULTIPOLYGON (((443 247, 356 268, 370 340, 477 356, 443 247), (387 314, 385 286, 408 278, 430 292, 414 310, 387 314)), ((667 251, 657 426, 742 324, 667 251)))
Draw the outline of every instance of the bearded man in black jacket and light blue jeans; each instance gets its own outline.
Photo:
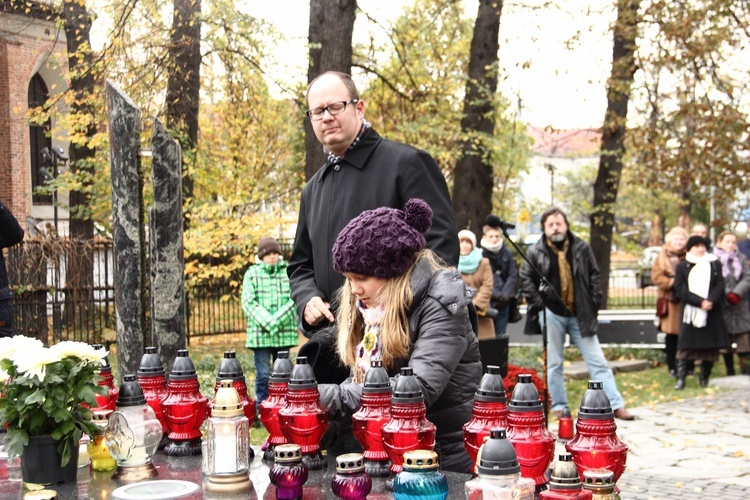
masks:
POLYGON ((615 417, 633 420, 617 390, 612 369, 604 357, 596 331, 602 290, 599 267, 588 243, 568 229, 568 217, 557 207, 542 214, 544 237, 529 248, 526 258, 547 279, 550 287, 540 290, 541 279, 528 262, 521 267, 521 291, 530 307, 544 309, 547 322, 547 386, 552 411, 558 416, 568 406, 563 380, 565 334, 581 351, 592 380, 601 380, 615 417))

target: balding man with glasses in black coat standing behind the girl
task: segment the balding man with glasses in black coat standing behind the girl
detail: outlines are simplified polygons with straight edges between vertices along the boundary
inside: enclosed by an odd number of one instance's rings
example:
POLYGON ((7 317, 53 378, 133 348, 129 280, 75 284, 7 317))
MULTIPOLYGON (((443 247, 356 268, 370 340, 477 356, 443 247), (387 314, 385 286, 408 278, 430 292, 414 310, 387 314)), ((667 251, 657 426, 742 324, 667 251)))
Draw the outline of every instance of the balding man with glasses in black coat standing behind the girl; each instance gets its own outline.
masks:
POLYGON ((302 191, 288 273, 292 299, 309 336, 335 321, 332 301, 344 278, 333 270, 331 249, 344 226, 365 210, 402 209, 409 199, 421 198, 433 211, 425 234, 428 248, 456 265, 459 243, 448 186, 437 163, 428 153, 383 139, 370 127, 350 75, 317 77, 307 89, 307 104, 326 163, 302 191))

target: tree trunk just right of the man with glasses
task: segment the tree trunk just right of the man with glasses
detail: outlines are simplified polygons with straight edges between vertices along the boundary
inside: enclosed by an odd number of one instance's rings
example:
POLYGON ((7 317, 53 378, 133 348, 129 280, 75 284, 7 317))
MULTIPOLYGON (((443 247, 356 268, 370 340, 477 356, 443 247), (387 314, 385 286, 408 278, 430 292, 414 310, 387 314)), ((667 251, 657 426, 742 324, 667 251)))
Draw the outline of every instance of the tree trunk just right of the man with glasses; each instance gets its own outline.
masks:
POLYGON ((479 2, 461 119, 464 140, 453 181, 453 209, 458 228, 470 228, 475 234, 482 234, 484 218, 492 212, 492 161, 483 142, 495 130, 493 107, 502 8, 502 1, 479 2))

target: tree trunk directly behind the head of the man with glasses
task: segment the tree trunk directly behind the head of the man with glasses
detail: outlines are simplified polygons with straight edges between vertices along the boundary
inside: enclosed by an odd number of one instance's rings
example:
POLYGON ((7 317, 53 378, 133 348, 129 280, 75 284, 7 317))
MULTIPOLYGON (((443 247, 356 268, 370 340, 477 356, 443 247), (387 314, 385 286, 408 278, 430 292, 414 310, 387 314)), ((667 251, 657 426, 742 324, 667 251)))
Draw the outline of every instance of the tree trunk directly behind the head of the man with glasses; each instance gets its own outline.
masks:
MULTIPOLYGON (((326 71, 351 73, 356 14, 356 0, 310 0, 308 83, 326 71)), ((310 120, 305 119, 305 178, 310 180, 324 161, 323 147, 310 120)))

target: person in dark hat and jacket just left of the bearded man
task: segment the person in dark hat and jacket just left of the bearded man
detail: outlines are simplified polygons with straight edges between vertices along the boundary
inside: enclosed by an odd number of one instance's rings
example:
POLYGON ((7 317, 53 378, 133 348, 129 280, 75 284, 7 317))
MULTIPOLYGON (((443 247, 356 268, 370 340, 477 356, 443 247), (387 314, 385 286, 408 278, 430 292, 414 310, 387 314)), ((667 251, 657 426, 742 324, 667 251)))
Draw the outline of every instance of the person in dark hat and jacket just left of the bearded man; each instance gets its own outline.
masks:
POLYGON ((490 261, 492 267, 492 298, 490 307, 497 309, 494 319, 495 337, 505 335, 510 318, 511 301, 516 296, 518 287, 518 270, 513 252, 504 245, 503 233, 500 231, 500 218, 488 215, 482 228, 482 255, 490 261))

